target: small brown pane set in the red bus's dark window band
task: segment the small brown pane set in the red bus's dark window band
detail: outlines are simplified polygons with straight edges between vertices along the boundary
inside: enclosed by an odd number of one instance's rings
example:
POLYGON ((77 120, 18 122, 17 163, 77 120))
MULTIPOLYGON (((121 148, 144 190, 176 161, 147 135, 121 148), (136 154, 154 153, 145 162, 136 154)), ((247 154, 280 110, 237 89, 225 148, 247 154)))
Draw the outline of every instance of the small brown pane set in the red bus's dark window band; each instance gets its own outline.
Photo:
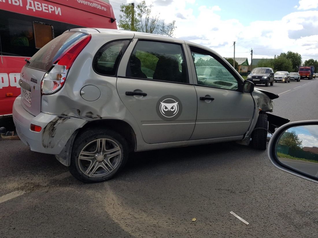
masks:
POLYGON ((53 40, 53 26, 41 22, 33 22, 35 48, 41 49, 53 40))

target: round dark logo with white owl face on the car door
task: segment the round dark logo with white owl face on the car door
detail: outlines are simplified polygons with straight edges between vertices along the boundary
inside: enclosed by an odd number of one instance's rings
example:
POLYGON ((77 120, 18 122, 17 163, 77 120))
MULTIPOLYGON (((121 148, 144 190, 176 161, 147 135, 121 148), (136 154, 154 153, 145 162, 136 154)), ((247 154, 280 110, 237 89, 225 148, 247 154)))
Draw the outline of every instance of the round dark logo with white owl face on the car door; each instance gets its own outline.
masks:
POLYGON ((176 120, 182 112, 180 100, 173 95, 166 95, 157 102, 156 111, 158 116, 165 121, 176 120))

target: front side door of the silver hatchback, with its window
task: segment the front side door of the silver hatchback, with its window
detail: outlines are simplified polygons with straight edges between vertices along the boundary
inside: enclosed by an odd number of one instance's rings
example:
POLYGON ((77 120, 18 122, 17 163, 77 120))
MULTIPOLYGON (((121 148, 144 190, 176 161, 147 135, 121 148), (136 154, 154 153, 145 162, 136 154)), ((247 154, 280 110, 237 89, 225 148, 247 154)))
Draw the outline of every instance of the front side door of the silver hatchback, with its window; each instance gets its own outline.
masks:
MULTIPOLYGON (((212 52, 191 47, 197 74, 197 120, 191 140, 242 136, 254 112, 252 95, 212 52), (214 56, 214 57, 213 57, 214 56)), ((224 64, 224 62, 223 62, 224 64)))

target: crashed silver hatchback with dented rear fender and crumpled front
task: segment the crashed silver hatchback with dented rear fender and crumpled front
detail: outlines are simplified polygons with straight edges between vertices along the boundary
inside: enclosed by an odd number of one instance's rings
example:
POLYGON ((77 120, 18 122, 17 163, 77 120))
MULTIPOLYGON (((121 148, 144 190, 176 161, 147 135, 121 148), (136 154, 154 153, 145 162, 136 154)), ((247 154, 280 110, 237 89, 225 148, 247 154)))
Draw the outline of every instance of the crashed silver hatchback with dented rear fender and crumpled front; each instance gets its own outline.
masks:
POLYGON ((20 77, 17 134, 83 182, 112 178, 130 151, 226 141, 266 149, 268 127, 288 122, 266 113, 277 95, 254 89, 213 50, 171 37, 69 30, 20 77))

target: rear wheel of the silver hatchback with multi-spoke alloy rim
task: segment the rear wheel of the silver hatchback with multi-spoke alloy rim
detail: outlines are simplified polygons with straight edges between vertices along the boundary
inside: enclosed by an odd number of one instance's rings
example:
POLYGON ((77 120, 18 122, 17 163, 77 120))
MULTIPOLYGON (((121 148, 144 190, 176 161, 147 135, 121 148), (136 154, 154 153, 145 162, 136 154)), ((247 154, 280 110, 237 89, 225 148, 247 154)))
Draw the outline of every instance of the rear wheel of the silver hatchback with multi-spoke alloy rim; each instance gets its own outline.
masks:
POLYGON ((75 139, 69 170, 81 182, 103 182, 114 177, 127 158, 123 136, 108 129, 90 129, 75 139))

